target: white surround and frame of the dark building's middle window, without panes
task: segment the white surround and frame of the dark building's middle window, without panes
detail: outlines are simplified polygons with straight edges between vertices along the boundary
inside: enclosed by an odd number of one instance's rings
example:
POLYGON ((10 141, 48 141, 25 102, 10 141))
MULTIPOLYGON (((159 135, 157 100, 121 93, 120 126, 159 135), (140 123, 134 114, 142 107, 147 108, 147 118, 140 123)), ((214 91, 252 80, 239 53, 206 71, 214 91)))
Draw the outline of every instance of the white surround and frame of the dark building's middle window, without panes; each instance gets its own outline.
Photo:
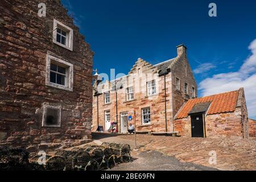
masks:
POLYGON ((47 55, 46 56, 46 85, 57 89, 67 90, 73 92, 73 64, 67 61, 61 60, 57 57, 47 55), (50 81, 51 63, 64 67, 65 73, 65 85, 56 84, 50 81))

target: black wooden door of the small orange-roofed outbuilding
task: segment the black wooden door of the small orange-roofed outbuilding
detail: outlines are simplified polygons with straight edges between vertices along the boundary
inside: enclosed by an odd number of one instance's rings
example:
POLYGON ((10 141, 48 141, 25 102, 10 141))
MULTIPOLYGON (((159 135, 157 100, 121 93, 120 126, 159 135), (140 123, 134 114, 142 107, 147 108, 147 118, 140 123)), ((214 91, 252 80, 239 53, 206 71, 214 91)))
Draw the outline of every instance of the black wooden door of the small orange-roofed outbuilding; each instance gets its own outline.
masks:
POLYGON ((203 114, 191 115, 192 137, 204 137, 203 114))

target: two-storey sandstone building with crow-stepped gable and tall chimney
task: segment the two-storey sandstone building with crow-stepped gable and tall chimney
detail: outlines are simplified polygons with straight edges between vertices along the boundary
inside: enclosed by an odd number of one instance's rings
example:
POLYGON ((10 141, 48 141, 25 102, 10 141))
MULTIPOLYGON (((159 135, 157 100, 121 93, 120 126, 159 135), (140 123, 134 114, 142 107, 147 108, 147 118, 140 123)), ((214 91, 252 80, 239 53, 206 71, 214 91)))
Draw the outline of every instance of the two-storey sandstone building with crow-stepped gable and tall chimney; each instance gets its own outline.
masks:
POLYGON ((137 131, 172 132, 177 111, 197 96, 184 45, 174 59, 156 65, 138 59, 128 75, 94 89, 92 130, 106 131, 116 122, 118 133, 127 133, 129 123, 137 131))

